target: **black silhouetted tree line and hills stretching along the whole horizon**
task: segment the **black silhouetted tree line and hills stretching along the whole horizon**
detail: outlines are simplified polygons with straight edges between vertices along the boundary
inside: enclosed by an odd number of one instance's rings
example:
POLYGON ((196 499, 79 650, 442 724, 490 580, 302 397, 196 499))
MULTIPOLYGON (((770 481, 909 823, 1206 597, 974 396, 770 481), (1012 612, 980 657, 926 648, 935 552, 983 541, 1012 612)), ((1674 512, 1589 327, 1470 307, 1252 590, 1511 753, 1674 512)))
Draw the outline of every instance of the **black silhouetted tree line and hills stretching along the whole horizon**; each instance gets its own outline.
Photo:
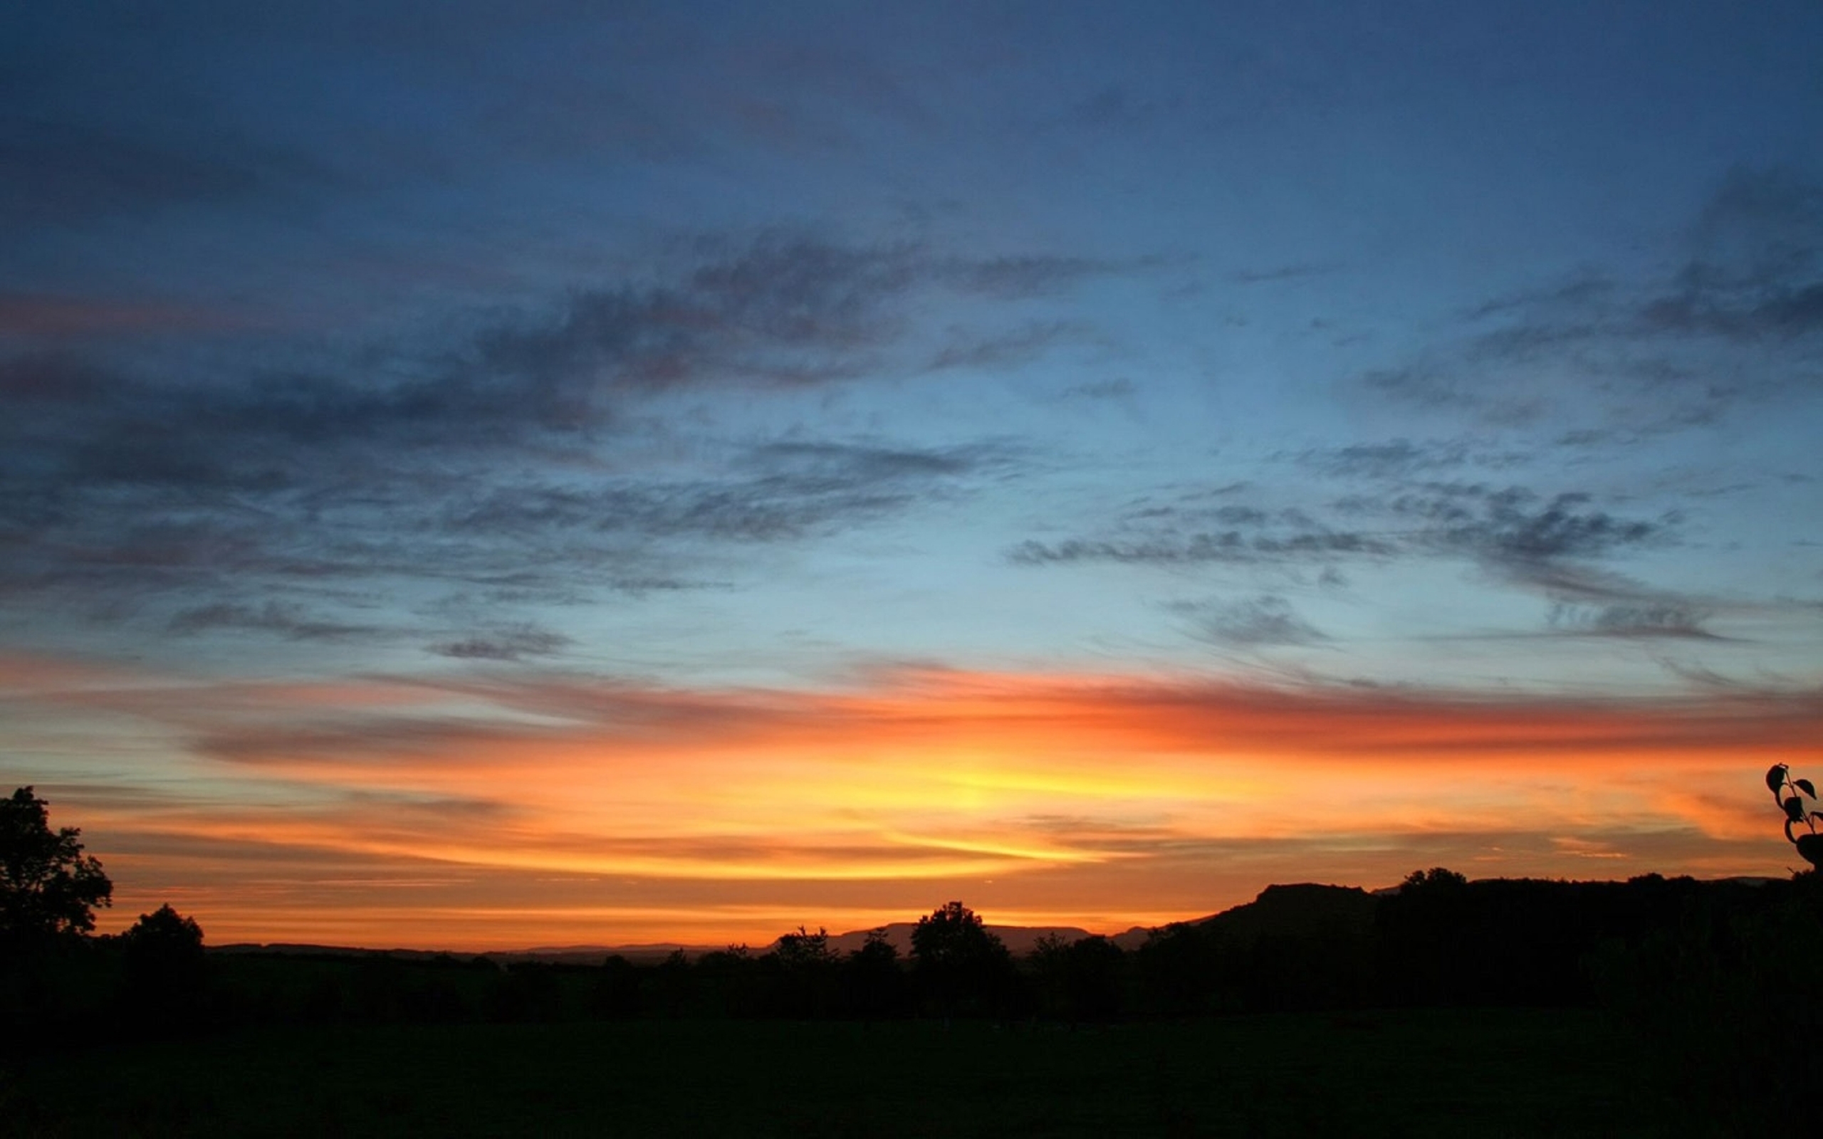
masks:
MULTIPOLYGON (((1812 860, 1808 780, 1766 784, 1812 860)), ((0 1030, 9 1046, 244 1024, 640 1019, 953 1021, 1085 1026, 1296 1010, 1608 1008, 1643 1030, 1683 1095, 1768 1119, 1823 1079, 1823 878, 1469 882, 1433 867, 1398 888, 1269 886, 1245 906, 1014 955, 959 900, 846 953, 798 926, 769 948, 600 964, 388 953, 204 953, 170 906, 95 937, 111 884, 29 787, 0 804, 0 1030)), ((1785 1115, 1788 1117, 1788 1115, 1785 1115)))

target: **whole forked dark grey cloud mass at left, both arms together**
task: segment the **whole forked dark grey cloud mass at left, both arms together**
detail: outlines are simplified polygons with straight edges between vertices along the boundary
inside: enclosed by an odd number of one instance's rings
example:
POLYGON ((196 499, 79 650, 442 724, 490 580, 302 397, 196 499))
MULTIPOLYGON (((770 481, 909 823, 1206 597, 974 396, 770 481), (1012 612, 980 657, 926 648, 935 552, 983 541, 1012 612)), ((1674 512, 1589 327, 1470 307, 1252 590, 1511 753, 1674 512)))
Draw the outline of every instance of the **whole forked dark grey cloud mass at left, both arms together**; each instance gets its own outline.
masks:
MULTIPOLYGON (((93 611, 191 590, 180 632, 304 638, 363 620, 242 590, 361 576, 540 596, 698 587, 704 543, 864 525, 1021 459, 1003 441, 782 439, 689 445, 691 474, 622 468, 620 448, 680 446, 651 397, 913 375, 928 366, 913 293, 997 304, 1107 272, 1125 268, 766 233, 685 242, 651 281, 476 319, 441 350, 204 370, 0 354, 0 596, 93 611)), ((1030 324, 977 348, 1012 359, 1077 332, 1030 324)))

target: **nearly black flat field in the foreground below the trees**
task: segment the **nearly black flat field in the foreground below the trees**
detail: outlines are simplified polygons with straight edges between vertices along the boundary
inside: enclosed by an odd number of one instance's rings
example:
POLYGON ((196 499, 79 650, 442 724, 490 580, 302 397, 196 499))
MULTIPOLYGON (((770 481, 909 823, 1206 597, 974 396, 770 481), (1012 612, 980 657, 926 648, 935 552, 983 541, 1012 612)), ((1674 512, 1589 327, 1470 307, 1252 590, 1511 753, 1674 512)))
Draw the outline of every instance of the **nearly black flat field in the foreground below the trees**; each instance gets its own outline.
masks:
MULTIPOLYGON (((259 1030, 38 1057, 26 1135, 1663 1135, 1590 1011, 259 1030)), ((1683 1121, 1690 1123, 1690 1121, 1683 1121)), ((1701 1134, 1703 1128, 1697 1128, 1701 1134)))

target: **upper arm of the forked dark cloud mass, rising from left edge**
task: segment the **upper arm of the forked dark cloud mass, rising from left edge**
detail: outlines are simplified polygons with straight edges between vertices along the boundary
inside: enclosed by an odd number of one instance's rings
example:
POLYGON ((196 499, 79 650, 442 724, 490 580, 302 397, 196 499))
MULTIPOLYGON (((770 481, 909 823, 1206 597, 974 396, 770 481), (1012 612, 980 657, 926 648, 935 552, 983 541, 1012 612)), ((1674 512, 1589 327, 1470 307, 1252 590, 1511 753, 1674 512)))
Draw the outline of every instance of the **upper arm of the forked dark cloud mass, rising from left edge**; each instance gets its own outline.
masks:
MULTIPOLYGON (((780 235, 693 253, 671 282, 576 292, 545 317, 492 321, 441 359, 182 381, 71 355, 0 359, 0 390, 24 412, 0 425, 0 485, 15 503, 102 485, 323 492, 414 461, 474 468, 503 452, 585 445, 667 390, 890 374, 884 355, 906 333, 899 301, 944 288, 964 264, 910 244, 780 235)), ((1052 279, 1070 272, 1090 270, 1048 268, 1052 279)), ((1004 363, 1074 333, 1035 324, 970 350, 1004 363)))

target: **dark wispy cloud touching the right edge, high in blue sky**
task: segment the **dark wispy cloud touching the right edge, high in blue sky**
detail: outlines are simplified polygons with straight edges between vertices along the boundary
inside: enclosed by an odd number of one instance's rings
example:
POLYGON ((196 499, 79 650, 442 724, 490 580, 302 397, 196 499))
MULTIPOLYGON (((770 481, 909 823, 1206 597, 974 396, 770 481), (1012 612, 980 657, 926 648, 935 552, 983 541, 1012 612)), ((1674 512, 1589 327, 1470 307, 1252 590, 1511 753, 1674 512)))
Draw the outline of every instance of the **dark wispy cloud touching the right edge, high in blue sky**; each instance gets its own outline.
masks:
POLYGON ((1577 414, 1628 436, 1823 385, 1823 186, 1732 171, 1657 275, 1582 268, 1471 306, 1455 333, 1364 370, 1376 395, 1519 426, 1577 414))

